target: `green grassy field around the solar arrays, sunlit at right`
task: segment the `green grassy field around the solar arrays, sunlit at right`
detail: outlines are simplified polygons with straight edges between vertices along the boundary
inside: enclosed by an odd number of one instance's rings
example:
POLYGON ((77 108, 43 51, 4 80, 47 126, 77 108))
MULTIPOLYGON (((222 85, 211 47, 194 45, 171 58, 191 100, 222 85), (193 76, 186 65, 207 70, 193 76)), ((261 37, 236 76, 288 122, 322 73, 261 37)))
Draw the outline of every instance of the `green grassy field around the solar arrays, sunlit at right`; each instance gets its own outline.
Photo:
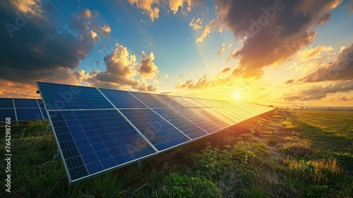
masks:
POLYGON ((0 197, 353 197, 353 112, 275 110, 71 187, 47 124, 11 124, 0 197))

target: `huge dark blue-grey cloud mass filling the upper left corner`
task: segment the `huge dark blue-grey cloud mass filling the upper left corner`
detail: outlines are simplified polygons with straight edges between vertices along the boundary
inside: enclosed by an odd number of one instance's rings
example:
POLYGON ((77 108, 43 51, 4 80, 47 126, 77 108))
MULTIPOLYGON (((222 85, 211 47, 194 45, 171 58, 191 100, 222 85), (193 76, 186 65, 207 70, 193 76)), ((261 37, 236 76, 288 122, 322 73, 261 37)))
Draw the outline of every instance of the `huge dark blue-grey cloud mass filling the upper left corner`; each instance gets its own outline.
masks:
POLYGON ((1 79, 32 86, 35 81, 78 83, 77 66, 100 40, 92 27, 100 21, 83 9, 71 14, 66 30, 54 16, 55 9, 40 1, 0 4, 0 23, 7 25, 0 28, 1 79))

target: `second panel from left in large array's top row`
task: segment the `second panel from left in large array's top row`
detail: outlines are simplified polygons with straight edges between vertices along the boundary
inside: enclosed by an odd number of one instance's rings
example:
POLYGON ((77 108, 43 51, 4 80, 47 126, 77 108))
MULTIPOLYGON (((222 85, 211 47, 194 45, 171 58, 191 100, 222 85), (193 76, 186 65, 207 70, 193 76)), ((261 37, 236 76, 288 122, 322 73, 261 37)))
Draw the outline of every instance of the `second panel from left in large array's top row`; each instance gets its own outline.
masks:
POLYGON ((117 108, 146 108, 143 103, 138 101, 127 91, 117 91, 105 88, 100 88, 100 91, 102 91, 102 93, 107 96, 117 108))

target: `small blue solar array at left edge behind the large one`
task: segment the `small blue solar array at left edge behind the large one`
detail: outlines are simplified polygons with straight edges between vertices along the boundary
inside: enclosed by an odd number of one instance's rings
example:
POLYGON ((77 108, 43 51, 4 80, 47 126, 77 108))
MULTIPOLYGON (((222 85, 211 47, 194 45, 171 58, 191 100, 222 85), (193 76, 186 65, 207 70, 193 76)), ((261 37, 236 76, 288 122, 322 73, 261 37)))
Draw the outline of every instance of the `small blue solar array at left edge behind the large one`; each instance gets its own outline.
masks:
POLYGON ((40 99, 0 98, 0 122, 6 117, 13 121, 47 120, 44 104, 40 99))

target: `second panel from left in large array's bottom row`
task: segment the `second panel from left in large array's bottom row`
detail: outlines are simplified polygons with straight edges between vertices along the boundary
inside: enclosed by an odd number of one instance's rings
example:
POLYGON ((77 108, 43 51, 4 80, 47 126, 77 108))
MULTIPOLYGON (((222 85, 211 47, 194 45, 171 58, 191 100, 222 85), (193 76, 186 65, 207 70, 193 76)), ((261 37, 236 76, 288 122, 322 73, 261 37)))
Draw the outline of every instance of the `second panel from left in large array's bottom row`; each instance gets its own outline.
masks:
POLYGON ((121 110, 159 151, 177 146, 189 138, 149 109, 121 110))

